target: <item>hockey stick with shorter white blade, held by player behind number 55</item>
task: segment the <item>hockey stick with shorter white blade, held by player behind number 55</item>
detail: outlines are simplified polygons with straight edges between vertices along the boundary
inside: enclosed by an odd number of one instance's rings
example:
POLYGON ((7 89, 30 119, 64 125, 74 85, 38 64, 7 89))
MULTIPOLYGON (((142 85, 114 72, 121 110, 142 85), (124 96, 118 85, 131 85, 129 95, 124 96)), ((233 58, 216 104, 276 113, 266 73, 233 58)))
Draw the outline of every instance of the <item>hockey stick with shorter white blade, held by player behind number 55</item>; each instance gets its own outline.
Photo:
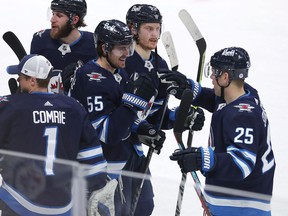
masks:
MULTIPOLYGON (((169 57, 171 69, 177 70, 178 69, 178 58, 176 55, 175 46, 174 46, 173 39, 172 39, 170 32, 168 32, 168 31, 164 32, 162 34, 161 38, 162 38, 162 42, 163 42, 163 45, 165 47, 165 50, 167 52, 167 55, 169 57)), ((161 129, 161 126, 162 126, 164 116, 165 116, 165 111, 168 107, 168 101, 169 101, 169 94, 166 95, 166 98, 164 99, 163 105, 161 107, 162 114, 161 114, 161 119, 160 119, 159 126, 158 126, 158 131, 161 129)), ((144 166, 145 168, 144 168, 144 172, 143 172, 144 177, 141 179, 141 183, 136 188, 135 196, 134 196, 133 203, 131 206, 131 215, 132 216, 135 214, 135 211, 136 211, 136 207, 137 207, 137 204, 138 204, 138 201, 140 198, 140 194, 142 191, 144 181, 146 179, 146 174, 147 174, 148 169, 149 169, 149 165, 151 162, 153 152, 154 152, 154 148, 150 147, 148 150, 147 156, 146 156, 146 163, 145 163, 145 166, 144 166)))

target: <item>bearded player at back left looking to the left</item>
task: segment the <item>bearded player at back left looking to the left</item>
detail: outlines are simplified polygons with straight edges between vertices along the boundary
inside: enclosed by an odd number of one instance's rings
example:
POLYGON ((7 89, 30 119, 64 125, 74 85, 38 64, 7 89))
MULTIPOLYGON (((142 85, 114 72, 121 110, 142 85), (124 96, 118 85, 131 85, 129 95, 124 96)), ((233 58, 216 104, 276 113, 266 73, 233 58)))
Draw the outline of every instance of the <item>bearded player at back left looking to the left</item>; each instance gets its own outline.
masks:
POLYGON ((93 33, 79 30, 86 26, 85 0, 52 0, 51 10, 51 28, 33 35, 30 53, 43 55, 52 63, 55 70, 54 76, 51 76, 49 90, 58 93, 59 90, 62 92, 63 88, 69 89, 70 84, 64 77, 67 82, 62 86, 60 72, 68 65, 73 67, 72 63, 86 63, 95 59, 97 54, 93 33))

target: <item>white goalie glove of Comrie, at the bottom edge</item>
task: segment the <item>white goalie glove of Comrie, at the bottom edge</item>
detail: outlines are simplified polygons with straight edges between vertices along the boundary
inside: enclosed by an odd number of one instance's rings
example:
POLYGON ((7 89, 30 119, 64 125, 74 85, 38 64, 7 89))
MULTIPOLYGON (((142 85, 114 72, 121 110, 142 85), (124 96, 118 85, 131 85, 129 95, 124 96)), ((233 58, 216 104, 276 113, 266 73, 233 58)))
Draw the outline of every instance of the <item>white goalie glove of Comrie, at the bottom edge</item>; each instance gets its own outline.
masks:
POLYGON ((113 179, 94 191, 88 200, 88 216, 115 215, 114 194, 117 180, 113 179))

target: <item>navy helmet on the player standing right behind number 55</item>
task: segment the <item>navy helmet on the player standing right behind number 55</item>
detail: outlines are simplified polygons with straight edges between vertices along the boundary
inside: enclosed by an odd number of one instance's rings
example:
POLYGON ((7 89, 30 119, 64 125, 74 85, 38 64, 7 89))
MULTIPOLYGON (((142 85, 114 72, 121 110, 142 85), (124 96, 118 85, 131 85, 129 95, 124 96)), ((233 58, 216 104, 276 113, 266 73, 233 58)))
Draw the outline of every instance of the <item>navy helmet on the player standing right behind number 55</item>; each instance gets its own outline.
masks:
POLYGON ((129 8, 126 14, 126 23, 134 24, 136 28, 141 23, 160 23, 162 15, 157 7, 148 4, 135 4, 129 8))

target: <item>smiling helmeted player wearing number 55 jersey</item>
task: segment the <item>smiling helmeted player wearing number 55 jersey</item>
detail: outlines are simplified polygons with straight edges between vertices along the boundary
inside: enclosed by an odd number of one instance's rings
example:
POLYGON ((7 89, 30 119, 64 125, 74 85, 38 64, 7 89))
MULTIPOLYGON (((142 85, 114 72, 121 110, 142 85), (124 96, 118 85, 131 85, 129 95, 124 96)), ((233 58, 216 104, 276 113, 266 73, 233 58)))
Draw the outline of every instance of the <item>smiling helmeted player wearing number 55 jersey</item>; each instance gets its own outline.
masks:
MULTIPOLYGON (((101 21, 95 44, 99 58, 77 70, 70 94, 84 105, 99 132, 108 174, 121 181, 119 174, 131 154, 127 143, 131 125, 136 118, 146 118, 157 91, 148 75, 133 73, 128 79, 123 70, 135 46, 126 24, 101 21)), ((116 215, 125 215, 118 207, 116 215)))

